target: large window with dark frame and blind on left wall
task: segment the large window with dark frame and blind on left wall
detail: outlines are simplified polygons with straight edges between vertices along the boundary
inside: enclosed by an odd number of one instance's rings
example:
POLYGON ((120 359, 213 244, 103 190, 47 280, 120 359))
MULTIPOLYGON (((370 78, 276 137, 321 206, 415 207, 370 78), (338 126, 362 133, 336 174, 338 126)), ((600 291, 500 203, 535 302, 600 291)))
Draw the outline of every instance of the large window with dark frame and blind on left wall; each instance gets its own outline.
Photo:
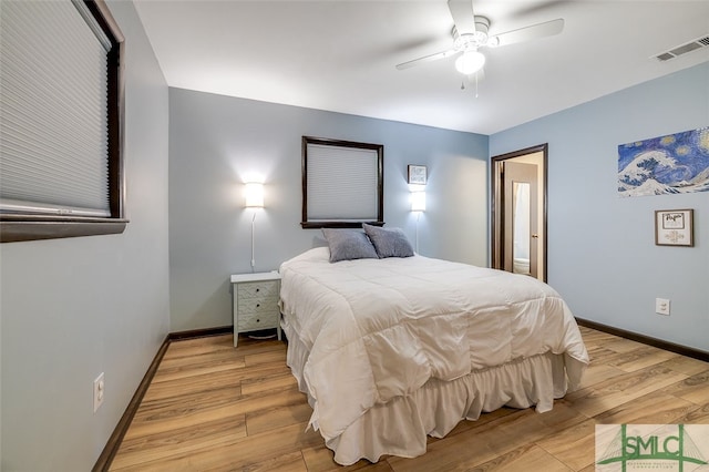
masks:
POLYGON ((1 242, 125 229, 122 44, 103 1, 2 3, 1 242))

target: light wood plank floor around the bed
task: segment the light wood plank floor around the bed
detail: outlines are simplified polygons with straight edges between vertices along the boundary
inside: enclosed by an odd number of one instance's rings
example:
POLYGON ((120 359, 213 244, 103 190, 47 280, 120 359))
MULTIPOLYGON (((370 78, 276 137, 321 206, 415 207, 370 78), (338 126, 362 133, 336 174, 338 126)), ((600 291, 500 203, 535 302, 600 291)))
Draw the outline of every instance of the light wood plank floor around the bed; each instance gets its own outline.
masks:
POLYGON ((275 340, 173 342, 121 444, 115 471, 583 471, 597 423, 709 424, 709 363, 582 328, 583 388, 547 413, 502 409, 430 439, 417 459, 341 468, 275 340))

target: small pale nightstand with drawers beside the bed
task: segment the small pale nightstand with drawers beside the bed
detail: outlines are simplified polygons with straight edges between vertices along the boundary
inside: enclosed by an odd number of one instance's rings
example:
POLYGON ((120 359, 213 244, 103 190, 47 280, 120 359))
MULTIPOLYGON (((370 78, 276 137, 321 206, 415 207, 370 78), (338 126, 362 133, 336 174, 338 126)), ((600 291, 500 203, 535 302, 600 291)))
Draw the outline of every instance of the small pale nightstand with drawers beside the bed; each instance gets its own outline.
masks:
POLYGON ((234 347, 239 332, 276 328, 280 340, 280 274, 258 273, 232 276, 234 289, 234 347))

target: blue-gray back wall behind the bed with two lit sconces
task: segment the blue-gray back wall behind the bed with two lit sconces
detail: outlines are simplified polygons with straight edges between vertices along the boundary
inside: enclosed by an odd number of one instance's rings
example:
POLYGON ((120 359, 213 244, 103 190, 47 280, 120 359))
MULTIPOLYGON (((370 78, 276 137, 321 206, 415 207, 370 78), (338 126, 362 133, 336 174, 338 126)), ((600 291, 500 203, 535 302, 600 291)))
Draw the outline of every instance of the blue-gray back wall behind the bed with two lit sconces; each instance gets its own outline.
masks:
POLYGON ((265 182, 256 271, 318 244, 319 230, 300 228, 302 135, 383 144, 384 220, 412 243, 407 164, 427 165, 420 252, 486 265, 487 136, 171 89, 172 331, 232 325, 228 277, 251 270, 251 175, 265 182))

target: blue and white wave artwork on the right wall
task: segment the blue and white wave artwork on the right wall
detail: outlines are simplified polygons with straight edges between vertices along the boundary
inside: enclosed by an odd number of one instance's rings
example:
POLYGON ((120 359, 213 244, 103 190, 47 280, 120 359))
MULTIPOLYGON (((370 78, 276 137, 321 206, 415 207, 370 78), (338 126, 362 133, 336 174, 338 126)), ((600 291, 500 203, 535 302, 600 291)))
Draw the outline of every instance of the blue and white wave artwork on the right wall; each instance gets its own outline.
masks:
POLYGON ((709 192, 709 127, 618 146, 620 196, 709 192))

